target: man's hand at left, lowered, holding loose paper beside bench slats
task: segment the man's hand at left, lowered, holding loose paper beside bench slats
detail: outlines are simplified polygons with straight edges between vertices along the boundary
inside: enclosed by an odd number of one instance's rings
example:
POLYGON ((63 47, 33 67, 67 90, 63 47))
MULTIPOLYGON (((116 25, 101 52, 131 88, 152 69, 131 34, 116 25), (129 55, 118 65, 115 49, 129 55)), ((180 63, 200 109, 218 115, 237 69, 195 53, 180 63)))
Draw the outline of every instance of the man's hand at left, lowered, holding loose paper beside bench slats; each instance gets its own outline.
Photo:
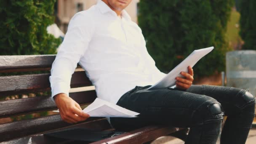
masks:
POLYGON ((90 117, 90 115, 83 112, 80 105, 67 96, 66 93, 59 93, 55 95, 53 99, 59 108, 61 119, 67 123, 77 123, 90 117))

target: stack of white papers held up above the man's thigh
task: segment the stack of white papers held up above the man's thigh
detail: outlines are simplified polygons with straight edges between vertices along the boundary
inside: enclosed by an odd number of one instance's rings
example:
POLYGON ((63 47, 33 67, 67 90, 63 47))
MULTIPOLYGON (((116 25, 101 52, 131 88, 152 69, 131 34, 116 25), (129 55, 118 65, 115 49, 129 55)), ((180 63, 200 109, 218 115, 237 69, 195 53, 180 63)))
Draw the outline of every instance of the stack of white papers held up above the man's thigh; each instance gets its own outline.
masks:
POLYGON ((162 80, 157 82, 155 85, 147 88, 149 89, 157 89, 157 88, 170 88, 175 86, 176 77, 183 77, 180 72, 188 72, 187 67, 194 65, 199 61, 203 56, 210 53, 214 47, 202 48, 199 50, 193 51, 186 59, 184 59, 180 64, 178 64, 174 69, 171 70, 162 80))

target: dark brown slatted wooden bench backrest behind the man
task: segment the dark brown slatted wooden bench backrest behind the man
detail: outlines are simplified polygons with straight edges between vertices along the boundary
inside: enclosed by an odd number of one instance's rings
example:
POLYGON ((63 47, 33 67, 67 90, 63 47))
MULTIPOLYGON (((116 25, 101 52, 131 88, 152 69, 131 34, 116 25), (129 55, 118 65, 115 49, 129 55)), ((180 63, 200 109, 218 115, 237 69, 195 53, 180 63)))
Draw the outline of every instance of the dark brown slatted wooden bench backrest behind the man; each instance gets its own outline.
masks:
MULTIPOLYGON (((57 109, 48 96, 35 96, 5 100, 5 96, 18 94, 51 91, 49 76, 51 65, 56 55, 26 55, 26 56, 0 56, 0 74, 10 72, 48 71, 48 73, 0 76, 0 121, 1 118, 25 115, 36 112, 57 109)), ((91 81, 78 65, 77 71, 72 75, 71 88, 91 86, 91 81)), ((80 105, 90 104, 96 99, 96 92, 80 91, 69 93, 69 96, 80 105)), ((85 122, 75 125, 85 125, 94 130, 109 129, 105 118, 89 118, 85 122), (87 125, 88 124, 88 125, 87 125)), ((28 136, 36 133, 45 133, 60 128, 67 128, 72 124, 61 120, 59 114, 31 118, 0 124, 0 141, 28 136)))

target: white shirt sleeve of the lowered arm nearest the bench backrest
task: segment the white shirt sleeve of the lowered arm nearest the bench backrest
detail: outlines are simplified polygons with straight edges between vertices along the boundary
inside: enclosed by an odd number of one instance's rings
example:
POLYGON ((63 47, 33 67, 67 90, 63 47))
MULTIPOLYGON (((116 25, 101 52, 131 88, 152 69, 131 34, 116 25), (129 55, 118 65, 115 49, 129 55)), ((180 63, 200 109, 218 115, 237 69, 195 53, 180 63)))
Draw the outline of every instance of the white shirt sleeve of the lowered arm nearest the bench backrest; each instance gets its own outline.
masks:
POLYGON ((70 81, 77 63, 88 48, 88 43, 93 35, 93 24, 90 16, 76 13, 69 22, 64 41, 53 61, 51 68, 51 97, 58 93, 69 96, 70 81), (86 21, 85 21, 86 20, 86 21))

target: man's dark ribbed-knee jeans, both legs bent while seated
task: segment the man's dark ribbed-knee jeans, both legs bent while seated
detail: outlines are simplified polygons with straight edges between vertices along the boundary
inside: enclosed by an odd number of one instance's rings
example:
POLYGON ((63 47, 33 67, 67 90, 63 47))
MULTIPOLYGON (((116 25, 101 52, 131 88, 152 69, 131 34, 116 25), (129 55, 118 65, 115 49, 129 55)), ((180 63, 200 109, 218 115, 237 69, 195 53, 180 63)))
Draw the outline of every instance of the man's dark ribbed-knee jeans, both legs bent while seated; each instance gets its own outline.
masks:
POLYGON ((255 98, 240 88, 192 85, 187 90, 163 88, 146 90, 136 86, 117 105, 139 112, 138 117, 111 117, 119 131, 147 125, 190 128, 185 144, 245 144, 255 116, 255 98), (223 115, 227 115, 221 131, 223 115))

